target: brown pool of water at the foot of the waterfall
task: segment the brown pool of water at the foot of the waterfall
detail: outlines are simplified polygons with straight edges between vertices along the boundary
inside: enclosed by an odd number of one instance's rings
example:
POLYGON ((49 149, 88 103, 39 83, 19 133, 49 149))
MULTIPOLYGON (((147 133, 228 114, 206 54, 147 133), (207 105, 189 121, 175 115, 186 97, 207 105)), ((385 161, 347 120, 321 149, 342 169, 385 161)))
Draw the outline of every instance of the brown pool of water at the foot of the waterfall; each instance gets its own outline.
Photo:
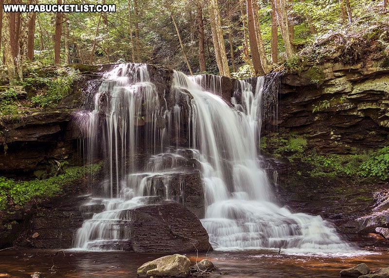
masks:
MULTIPOLYGON (((166 254, 130 252, 74 252, 70 250, 0 251, 0 274, 29 278, 38 271, 45 278, 136 278, 136 270, 146 261, 166 254)), ((205 256, 219 269, 210 277, 339 277, 339 271, 359 263, 371 270, 389 266, 388 251, 354 257, 278 255, 265 251, 210 252, 184 254, 192 264, 205 256), (221 275, 220 273, 224 273, 221 275)))

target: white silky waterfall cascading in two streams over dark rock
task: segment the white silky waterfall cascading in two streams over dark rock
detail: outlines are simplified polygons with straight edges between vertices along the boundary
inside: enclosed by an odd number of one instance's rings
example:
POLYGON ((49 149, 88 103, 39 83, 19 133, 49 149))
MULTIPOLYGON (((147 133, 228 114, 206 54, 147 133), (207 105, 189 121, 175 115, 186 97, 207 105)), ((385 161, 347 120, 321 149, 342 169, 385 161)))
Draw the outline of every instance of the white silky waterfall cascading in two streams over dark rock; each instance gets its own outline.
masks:
POLYGON ((145 204, 143 196, 172 199, 167 187, 174 175, 186 171, 188 158, 183 153, 189 151, 191 159, 201 167, 206 204, 201 222, 214 249, 281 247, 288 253, 353 251, 320 216, 292 213, 272 202, 273 195, 256 148, 262 122, 263 78, 258 78, 255 94, 250 84, 240 81, 241 101, 239 104, 235 99, 231 101, 235 109, 219 96, 204 91, 193 79, 182 73, 173 74, 171 92, 176 94, 176 105, 169 110, 161 108, 162 100, 148 79, 145 65, 121 65, 106 75, 95 95, 94 110, 89 113, 88 137, 89 148, 94 151, 102 146, 96 140, 101 138, 105 142, 109 163, 106 184, 112 189, 106 190, 109 193, 106 197, 92 199, 93 204, 105 204, 105 210, 84 222, 77 234, 76 247, 112 250, 125 246, 130 237, 126 230, 130 219, 124 211, 145 204), (104 94, 107 101, 103 101, 102 107, 104 94), (154 154, 141 171, 130 160, 137 151, 138 115, 143 114, 151 117, 148 136, 154 136, 151 141, 158 148, 154 147, 154 154), (167 123, 164 131, 156 128, 162 116, 167 123), (187 149, 177 149, 178 143, 172 149, 164 138, 169 133, 179 136, 182 130, 177 128, 182 121, 186 121, 185 132, 190 133, 185 143, 187 149))

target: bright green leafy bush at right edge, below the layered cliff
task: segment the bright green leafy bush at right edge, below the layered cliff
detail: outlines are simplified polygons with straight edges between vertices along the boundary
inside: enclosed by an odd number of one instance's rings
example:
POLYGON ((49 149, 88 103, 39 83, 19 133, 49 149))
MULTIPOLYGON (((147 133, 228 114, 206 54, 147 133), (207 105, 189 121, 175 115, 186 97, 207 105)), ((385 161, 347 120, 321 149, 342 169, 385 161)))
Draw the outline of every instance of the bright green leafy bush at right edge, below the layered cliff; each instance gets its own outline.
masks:
POLYGON ((375 177, 384 181, 388 180, 389 147, 384 147, 371 153, 370 159, 362 163, 360 168, 363 170, 363 176, 375 177))

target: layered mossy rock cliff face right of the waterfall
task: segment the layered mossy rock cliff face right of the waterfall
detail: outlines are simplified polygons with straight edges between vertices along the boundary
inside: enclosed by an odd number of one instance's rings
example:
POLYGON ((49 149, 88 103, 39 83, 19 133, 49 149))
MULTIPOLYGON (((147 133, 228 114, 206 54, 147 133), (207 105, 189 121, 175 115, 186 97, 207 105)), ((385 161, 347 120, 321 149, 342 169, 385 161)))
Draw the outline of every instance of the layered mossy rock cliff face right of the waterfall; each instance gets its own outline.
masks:
POLYGON ((305 135, 310 147, 322 153, 386 145, 389 67, 385 62, 327 62, 318 71, 321 85, 312 84, 309 71, 282 78, 278 122, 270 125, 305 135))

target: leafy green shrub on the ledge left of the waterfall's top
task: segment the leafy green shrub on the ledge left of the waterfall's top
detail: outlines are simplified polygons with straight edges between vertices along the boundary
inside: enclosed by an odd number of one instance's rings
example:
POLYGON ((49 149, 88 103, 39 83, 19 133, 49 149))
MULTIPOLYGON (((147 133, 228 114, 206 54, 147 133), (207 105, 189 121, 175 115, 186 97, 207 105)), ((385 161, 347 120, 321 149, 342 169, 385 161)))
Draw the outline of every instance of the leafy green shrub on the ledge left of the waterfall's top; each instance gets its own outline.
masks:
POLYGON ((37 94, 31 98, 32 102, 41 108, 48 108, 56 105, 61 99, 71 93, 71 86, 74 82, 80 79, 80 72, 65 68, 58 70, 58 76, 53 79, 31 77, 28 80, 35 82, 43 82, 48 86, 46 92, 37 94))

